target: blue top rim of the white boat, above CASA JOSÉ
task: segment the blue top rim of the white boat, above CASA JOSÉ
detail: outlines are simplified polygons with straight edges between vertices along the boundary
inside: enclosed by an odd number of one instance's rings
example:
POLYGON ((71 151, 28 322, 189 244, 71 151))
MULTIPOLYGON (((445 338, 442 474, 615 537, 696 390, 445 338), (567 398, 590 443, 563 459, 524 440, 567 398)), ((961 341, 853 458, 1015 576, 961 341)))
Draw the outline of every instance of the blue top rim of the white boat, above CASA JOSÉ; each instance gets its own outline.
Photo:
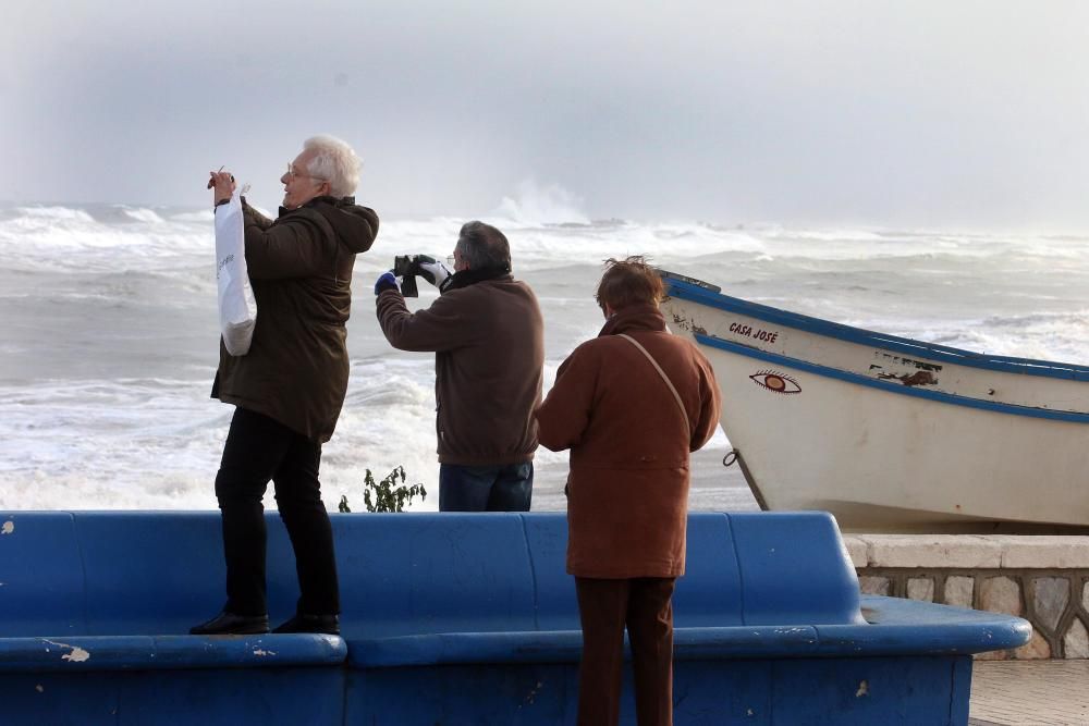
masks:
POLYGON ((982 368, 987 370, 998 370, 1007 373, 1020 373, 1025 376, 1042 376, 1044 378, 1060 378, 1074 381, 1089 381, 1089 366, 1077 364, 1055 362, 1051 360, 1036 360, 1032 358, 1014 358, 1011 356, 994 356, 963 348, 954 348, 938 343, 927 343, 909 337, 898 337, 878 333, 862 328, 853 328, 842 323, 812 318, 798 312, 790 312, 773 308, 759 303, 750 303, 738 297, 731 297, 721 293, 712 293, 697 285, 692 285, 675 279, 665 279, 665 293, 672 297, 683 300, 690 300, 708 307, 737 312, 767 322, 787 325, 798 330, 804 330, 818 335, 825 335, 848 343, 868 345, 895 350, 918 358, 929 360, 940 360, 943 362, 967 366, 970 368, 982 368))

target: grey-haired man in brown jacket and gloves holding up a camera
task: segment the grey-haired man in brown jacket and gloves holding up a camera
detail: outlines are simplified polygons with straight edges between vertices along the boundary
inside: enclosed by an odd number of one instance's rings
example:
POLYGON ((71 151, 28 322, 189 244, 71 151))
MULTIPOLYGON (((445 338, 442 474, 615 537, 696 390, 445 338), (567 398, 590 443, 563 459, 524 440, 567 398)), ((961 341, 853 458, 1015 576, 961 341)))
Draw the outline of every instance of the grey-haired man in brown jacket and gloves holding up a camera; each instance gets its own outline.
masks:
POLYGON ((544 324, 511 274, 511 247, 484 222, 462 226, 450 270, 417 257, 440 290, 409 312, 391 271, 375 284, 378 322, 401 350, 435 353, 440 512, 528 512, 541 401, 544 324))

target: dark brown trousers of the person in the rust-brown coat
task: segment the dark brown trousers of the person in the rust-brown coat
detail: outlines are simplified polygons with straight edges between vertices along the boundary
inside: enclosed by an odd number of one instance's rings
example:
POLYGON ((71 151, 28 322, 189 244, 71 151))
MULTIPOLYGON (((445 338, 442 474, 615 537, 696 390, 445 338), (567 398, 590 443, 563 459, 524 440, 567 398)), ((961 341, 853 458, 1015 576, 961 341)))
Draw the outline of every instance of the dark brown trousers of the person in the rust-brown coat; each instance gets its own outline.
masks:
POLYGON ((673 724, 673 586, 675 578, 575 578, 583 624, 579 726, 620 722, 624 628, 632 643, 639 726, 673 724))

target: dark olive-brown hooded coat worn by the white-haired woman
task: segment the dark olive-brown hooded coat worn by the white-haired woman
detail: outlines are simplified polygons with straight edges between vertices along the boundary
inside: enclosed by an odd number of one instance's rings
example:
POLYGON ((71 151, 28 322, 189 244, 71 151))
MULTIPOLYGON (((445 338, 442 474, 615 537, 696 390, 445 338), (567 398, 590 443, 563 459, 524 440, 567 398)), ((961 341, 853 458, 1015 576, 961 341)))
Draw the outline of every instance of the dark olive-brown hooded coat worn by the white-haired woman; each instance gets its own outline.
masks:
POLYGON ((281 207, 276 221, 249 205, 243 212, 257 325, 244 356, 220 341, 211 395, 323 443, 347 390, 352 268, 374 244, 378 216, 352 197, 281 207))

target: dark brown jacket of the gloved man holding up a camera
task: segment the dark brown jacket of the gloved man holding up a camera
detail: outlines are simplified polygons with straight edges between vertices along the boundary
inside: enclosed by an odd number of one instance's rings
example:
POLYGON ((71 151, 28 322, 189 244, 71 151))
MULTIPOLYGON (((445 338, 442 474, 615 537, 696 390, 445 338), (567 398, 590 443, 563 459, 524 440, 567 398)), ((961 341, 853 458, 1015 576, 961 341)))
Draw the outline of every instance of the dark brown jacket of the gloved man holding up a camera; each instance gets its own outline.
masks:
POLYGON ((485 280, 448 290, 415 313, 401 293, 386 290, 377 305, 393 347, 435 352, 439 460, 462 466, 531 460, 544 323, 529 285, 511 275, 485 280))

